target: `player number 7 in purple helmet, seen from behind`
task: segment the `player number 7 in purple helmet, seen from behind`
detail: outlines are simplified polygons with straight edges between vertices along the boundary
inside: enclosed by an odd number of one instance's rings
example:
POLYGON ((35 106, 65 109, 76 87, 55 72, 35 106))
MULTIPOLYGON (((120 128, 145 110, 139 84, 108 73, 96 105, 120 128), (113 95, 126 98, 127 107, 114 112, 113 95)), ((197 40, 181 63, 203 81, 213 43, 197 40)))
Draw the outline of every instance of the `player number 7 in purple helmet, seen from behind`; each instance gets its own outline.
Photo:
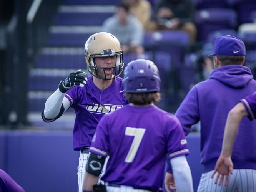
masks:
POLYGON ((158 68, 149 60, 131 61, 124 72, 130 104, 104 116, 96 129, 86 165, 84 191, 157 191, 166 154, 179 191, 192 192, 187 141, 178 119, 154 105, 160 100, 158 68), (105 186, 96 185, 109 156, 105 186), (97 190, 98 188, 100 190, 97 190))

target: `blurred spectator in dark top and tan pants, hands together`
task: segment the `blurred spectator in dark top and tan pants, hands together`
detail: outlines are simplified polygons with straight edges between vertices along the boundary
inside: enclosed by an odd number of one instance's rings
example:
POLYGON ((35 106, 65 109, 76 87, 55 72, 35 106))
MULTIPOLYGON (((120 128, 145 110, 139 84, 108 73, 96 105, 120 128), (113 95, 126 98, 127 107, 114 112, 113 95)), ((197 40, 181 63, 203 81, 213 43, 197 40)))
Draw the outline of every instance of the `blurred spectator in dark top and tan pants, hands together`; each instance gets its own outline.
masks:
POLYGON ((160 0, 153 12, 151 30, 183 30, 190 35, 191 43, 196 40, 194 3, 191 0, 160 0))

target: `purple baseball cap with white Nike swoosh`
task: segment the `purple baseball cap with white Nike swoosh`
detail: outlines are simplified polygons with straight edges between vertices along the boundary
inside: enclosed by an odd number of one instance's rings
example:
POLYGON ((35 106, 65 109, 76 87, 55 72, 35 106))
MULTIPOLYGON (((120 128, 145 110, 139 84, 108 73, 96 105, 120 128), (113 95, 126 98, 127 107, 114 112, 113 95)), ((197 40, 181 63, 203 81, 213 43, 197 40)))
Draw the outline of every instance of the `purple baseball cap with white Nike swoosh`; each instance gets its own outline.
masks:
POLYGON ((232 35, 221 36, 214 42, 214 52, 208 56, 215 55, 245 55, 244 42, 232 35))

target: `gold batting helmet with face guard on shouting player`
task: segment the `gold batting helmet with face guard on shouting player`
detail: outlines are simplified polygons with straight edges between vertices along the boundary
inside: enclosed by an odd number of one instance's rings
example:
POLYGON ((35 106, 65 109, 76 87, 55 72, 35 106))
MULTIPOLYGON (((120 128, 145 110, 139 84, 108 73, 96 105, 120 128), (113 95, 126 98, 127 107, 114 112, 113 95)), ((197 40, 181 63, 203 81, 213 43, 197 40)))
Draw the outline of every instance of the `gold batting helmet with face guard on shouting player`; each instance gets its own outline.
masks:
POLYGON ((110 80, 120 76, 123 71, 123 51, 118 39, 105 32, 95 33, 85 43, 85 59, 89 73, 96 78, 110 80), (116 63, 113 67, 98 67, 95 58, 116 57, 116 63), (107 77, 105 69, 112 69, 111 77, 107 77), (99 73, 99 70, 103 71, 99 73), (101 75, 100 75, 101 74, 101 75))

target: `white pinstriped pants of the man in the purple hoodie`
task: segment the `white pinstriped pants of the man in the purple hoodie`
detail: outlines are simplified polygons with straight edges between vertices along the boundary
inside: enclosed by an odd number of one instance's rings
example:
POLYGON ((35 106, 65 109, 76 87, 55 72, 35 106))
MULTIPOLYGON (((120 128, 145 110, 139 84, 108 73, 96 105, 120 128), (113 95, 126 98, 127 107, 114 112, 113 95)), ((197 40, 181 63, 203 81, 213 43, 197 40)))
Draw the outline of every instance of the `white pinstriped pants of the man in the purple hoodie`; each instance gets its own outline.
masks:
POLYGON ((217 173, 211 179, 212 171, 201 175, 197 192, 256 192, 256 170, 254 169, 234 169, 233 174, 229 175, 228 185, 225 187, 214 184, 217 173))

